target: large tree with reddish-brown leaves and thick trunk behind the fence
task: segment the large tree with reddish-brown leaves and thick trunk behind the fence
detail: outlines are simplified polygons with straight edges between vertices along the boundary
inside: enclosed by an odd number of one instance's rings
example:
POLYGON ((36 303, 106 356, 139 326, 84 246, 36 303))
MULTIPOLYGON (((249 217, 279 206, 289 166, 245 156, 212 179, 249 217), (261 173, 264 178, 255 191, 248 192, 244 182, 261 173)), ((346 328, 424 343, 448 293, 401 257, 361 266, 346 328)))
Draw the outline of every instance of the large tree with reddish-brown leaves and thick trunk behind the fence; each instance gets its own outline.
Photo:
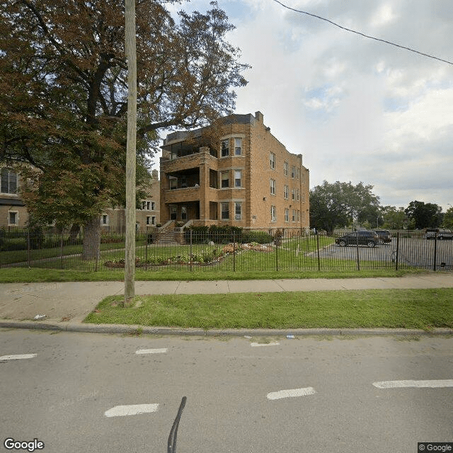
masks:
MULTIPOLYGON (((234 27, 217 3, 178 21, 166 3, 137 1, 137 169, 157 130, 231 113, 233 88, 246 84, 248 66, 225 40, 234 27)), ((99 214, 124 205, 123 1, 1 1, 0 14, 0 159, 33 166, 22 168, 28 210, 83 225, 83 256, 93 258, 99 214)))

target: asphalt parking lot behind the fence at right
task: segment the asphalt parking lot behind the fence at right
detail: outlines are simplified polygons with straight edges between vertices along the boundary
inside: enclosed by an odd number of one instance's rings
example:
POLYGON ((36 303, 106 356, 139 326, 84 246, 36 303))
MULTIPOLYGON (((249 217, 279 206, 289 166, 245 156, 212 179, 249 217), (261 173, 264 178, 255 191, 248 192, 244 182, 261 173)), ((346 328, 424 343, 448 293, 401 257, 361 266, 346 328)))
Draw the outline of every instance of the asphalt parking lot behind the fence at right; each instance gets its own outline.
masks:
MULTIPOLYGON (((397 241, 378 244, 376 247, 332 244, 320 251, 320 258, 396 263, 397 241)), ((453 241, 432 241, 424 238, 400 238, 398 240, 398 264, 415 268, 453 270, 453 241)))

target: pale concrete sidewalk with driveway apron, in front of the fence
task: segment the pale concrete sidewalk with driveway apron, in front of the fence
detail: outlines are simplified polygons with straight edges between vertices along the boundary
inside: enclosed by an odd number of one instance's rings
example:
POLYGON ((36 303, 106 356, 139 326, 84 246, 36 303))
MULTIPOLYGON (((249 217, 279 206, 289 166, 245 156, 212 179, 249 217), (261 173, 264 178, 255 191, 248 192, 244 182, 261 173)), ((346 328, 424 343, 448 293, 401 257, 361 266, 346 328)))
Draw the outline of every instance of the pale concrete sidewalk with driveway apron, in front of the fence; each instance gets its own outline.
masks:
MULTIPOLYGON (((452 273, 350 279, 137 281, 135 293, 225 294, 446 287, 453 287, 452 273)), ((0 285, 0 326, 54 326, 59 330, 76 330, 77 326, 86 326, 81 321, 104 297, 123 293, 124 282, 4 283, 0 285), (33 321, 36 315, 45 315, 44 321, 33 321)), ((96 326, 86 326, 84 331, 93 327, 96 326)), ((110 327, 110 331, 117 331, 110 327)), ((156 331, 155 328, 151 330, 156 331)), ((108 327, 99 331, 108 331, 108 327)))

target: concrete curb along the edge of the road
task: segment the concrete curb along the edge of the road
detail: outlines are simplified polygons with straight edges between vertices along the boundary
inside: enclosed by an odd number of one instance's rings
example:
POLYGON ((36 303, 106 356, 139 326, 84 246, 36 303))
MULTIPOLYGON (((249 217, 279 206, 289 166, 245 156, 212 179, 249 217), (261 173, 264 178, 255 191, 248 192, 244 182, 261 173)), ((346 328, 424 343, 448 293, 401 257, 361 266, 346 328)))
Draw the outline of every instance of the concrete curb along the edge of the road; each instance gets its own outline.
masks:
POLYGON ((210 329, 150 327, 137 324, 82 324, 55 323, 52 321, 0 321, 0 328, 24 328, 45 331, 83 332, 83 333, 144 333, 151 335, 180 335, 180 336, 445 336, 453 335, 451 328, 435 328, 432 331, 422 329, 402 328, 295 328, 295 329, 210 329))

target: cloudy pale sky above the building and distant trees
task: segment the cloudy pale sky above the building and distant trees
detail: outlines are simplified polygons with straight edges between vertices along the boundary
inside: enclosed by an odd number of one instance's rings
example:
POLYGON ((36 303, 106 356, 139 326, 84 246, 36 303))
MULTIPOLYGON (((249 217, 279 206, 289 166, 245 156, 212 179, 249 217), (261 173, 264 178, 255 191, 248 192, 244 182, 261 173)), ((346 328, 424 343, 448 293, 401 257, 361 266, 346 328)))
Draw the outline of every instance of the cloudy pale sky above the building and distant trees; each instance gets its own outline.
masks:
MULTIPOLYGON (((366 35, 453 62, 452 0, 281 0, 366 35)), ((453 65, 369 40, 273 0, 219 0, 245 88, 236 113, 303 154, 310 187, 374 185, 382 205, 453 205, 453 65)), ((179 8, 206 11, 208 0, 179 8)))

